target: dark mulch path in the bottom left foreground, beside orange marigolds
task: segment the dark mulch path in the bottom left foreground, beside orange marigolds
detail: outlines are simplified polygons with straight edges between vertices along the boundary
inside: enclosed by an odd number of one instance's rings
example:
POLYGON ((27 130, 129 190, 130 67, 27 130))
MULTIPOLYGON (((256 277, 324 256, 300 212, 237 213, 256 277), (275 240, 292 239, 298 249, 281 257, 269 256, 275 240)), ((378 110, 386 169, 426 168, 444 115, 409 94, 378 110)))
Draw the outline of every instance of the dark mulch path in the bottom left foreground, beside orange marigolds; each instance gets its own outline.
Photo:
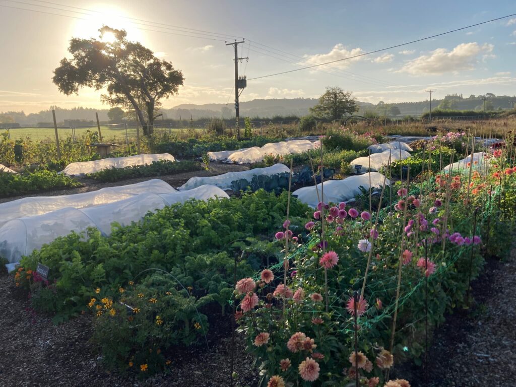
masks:
MULTIPOLYGON (((170 372, 146 381, 107 373, 88 343, 91 322, 80 316, 55 326, 49 317, 29 309, 29 302, 13 286, 11 276, 0 275, 0 385, 6 387, 115 387, 230 385, 231 336, 224 322, 222 336, 208 337, 206 345, 171 354, 170 372)), ((220 312, 219 312, 220 313, 220 312)), ((214 327, 212 332, 216 332, 214 327)), ((257 371, 236 335, 235 372, 241 386, 255 386, 257 371)))

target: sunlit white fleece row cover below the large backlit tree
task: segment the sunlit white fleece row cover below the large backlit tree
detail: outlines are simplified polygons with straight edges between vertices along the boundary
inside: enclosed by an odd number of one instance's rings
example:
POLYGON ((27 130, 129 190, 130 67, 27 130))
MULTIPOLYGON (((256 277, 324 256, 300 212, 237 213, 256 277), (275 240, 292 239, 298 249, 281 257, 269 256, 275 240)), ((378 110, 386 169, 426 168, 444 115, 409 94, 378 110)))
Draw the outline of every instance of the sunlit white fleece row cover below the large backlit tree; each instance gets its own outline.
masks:
POLYGON ((152 164, 159 160, 175 161, 174 156, 168 153, 158 154, 138 154, 127 157, 107 157, 90 162, 70 163, 61 171, 66 175, 81 175, 86 173, 98 172, 101 169, 125 168, 134 165, 152 164))

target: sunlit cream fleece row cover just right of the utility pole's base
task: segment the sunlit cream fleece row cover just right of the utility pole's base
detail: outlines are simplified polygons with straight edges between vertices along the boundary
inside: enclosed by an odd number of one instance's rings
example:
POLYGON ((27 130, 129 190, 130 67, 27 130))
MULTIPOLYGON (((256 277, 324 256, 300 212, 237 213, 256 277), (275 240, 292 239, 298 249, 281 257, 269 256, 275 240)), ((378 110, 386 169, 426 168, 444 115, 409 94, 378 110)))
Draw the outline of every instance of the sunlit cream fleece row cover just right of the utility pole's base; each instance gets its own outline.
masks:
POLYGON ((316 149, 320 145, 319 141, 310 140, 291 140, 281 142, 269 142, 263 147, 252 147, 238 149, 236 151, 208 152, 210 160, 223 161, 225 163, 250 164, 262 161, 263 158, 272 154, 283 156, 291 153, 301 153, 316 149))

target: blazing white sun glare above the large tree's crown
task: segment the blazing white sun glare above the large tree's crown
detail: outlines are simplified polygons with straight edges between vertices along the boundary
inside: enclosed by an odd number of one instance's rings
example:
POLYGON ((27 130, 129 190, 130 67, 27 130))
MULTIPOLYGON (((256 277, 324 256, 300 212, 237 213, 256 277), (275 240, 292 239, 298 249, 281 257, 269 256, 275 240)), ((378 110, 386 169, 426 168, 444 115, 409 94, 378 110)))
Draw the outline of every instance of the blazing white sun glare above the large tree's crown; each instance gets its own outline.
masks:
MULTIPOLYGON (((93 12, 89 15, 84 15, 80 20, 75 21, 71 27, 71 36, 82 39, 98 39, 99 29, 103 25, 111 28, 125 29, 127 32, 127 39, 131 41, 138 41, 146 44, 146 37, 143 31, 137 28, 135 23, 132 23, 130 15, 124 9, 106 4, 96 4, 89 7, 93 12)), ((112 33, 105 33, 102 41, 105 43, 112 43, 116 37, 112 33)))

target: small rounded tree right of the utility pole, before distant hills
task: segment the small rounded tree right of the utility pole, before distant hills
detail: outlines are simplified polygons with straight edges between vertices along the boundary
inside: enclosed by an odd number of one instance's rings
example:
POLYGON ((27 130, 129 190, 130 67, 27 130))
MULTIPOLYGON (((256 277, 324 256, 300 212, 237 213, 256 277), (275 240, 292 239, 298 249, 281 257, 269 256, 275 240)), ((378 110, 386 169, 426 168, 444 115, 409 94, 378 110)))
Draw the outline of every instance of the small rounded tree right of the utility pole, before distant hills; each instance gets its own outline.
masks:
POLYGON ((340 87, 327 87, 326 92, 319 98, 319 103, 310 108, 317 118, 340 120, 344 115, 353 114, 358 110, 357 101, 350 91, 340 87))

